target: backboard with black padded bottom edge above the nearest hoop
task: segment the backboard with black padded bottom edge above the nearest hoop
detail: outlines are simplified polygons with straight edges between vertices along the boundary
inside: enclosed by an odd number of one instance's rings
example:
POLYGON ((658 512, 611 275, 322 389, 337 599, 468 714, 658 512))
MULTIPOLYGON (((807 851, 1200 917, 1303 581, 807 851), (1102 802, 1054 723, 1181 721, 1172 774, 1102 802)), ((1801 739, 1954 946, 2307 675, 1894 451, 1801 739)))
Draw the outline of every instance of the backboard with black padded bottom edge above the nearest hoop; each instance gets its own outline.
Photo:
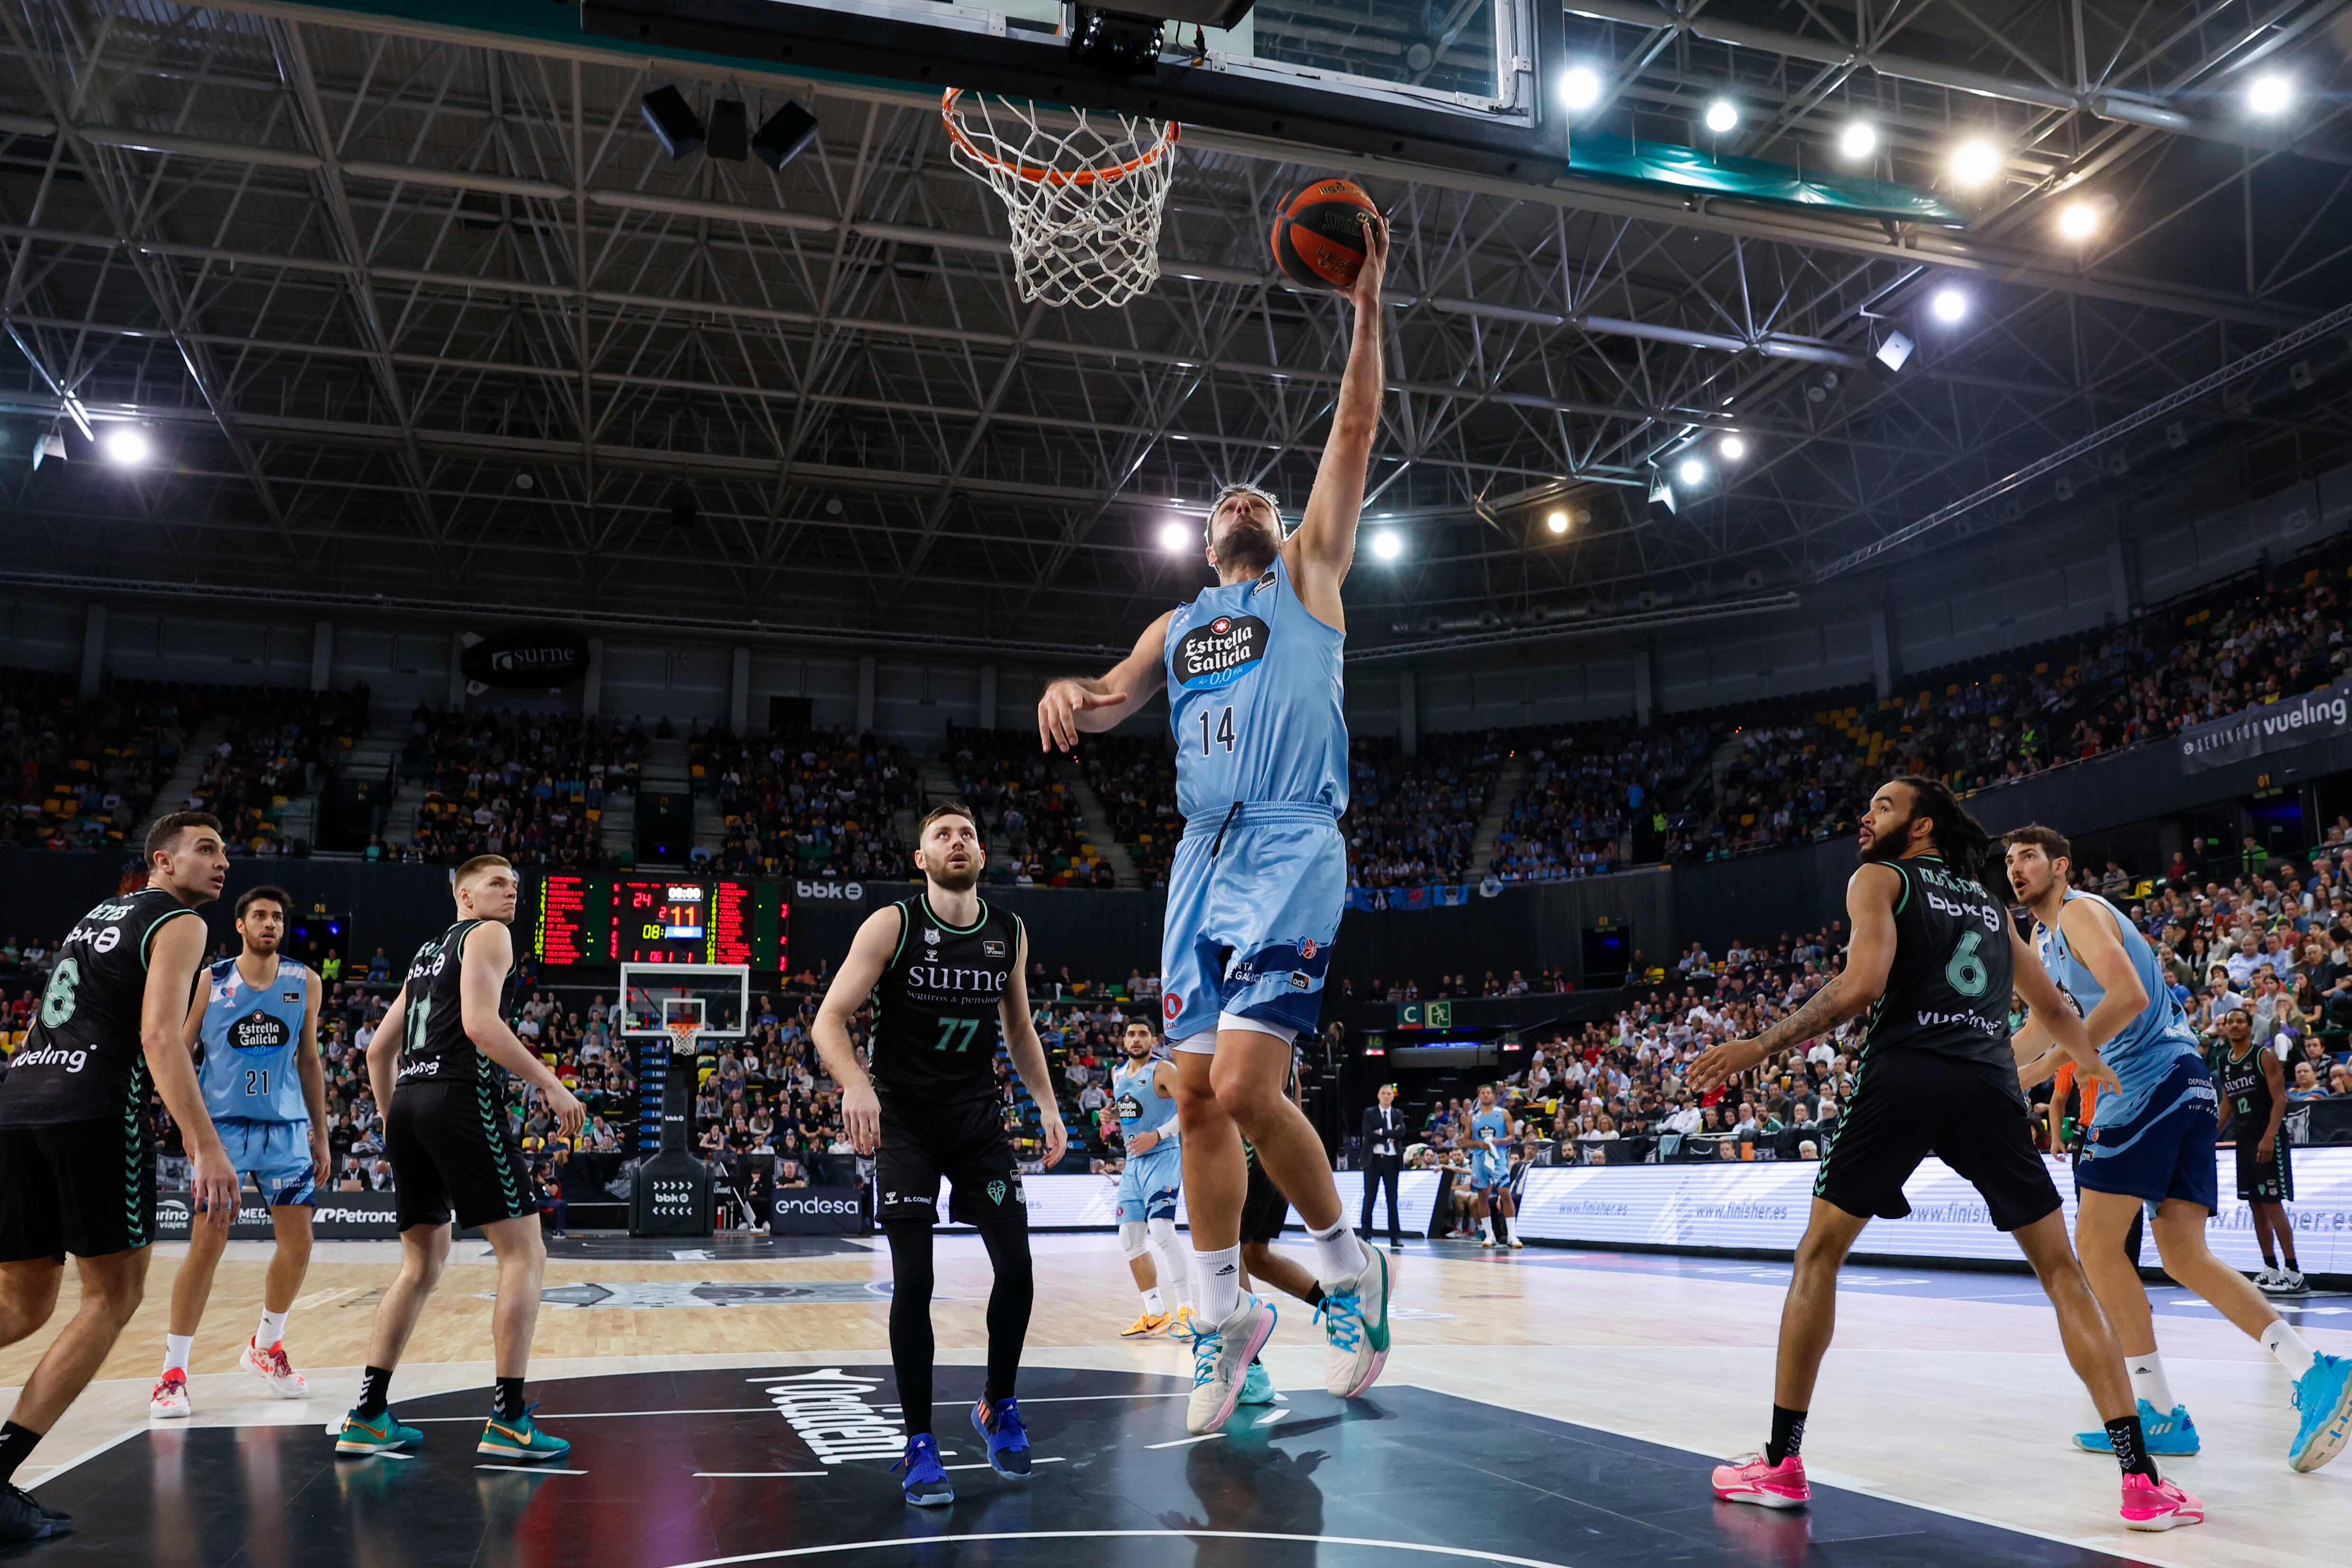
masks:
MULTIPOLYGON (((1200 0, 1169 12, 1211 14, 1200 0)), ((880 78, 1545 183, 1566 167, 1564 12, 1543 0, 1258 0, 1232 28, 1169 21, 1148 73, 1073 56, 1058 0, 583 0, 604 38, 767 71, 880 78)), ((1120 7, 1129 9, 1129 7, 1120 7)), ((1131 0, 1131 9, 1152 9, 1131 0)))

